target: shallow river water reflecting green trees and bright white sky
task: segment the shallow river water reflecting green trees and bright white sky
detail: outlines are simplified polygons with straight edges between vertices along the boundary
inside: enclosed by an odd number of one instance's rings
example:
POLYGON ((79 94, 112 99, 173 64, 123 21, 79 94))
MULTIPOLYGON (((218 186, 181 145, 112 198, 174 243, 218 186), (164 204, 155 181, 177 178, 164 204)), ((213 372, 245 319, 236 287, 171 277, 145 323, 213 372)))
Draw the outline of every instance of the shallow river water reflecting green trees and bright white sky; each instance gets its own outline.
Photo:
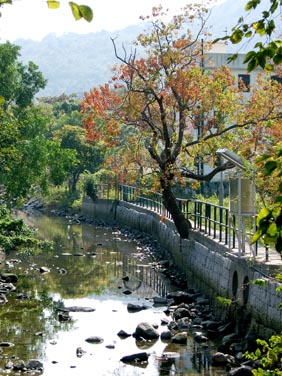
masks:
POLYGON ((166 306, 153 304, 154 297, 165 296, 172 286, 154 269, 148 249, 116 229, 21 215, 42 238, 54 241, 54 250, 9 254, 1 265, 2 271, 16 274, 18 282, 0 307, 0 375, 20 374, 7 368, 16 359, 40 360, 46 376, 226 375, 210 366, 208 353, 192 336, 187 345, 118 336, 121 330, 134 333, 140 322, 156 324, 161 333, 167 330, 162 319, 171 320, 166 306), (128 303, 148 308, 130 313, 128 303), (62 321, 62 307, 89 312, 70 312, 70 319, 62 321), (91 336, 103 341, 88 343, 91 336), (144 351, 150 354, 145 364, 120 360, 144 351), (164 354, 166 359, 173 354, 173 359, 164 361, 164 354))

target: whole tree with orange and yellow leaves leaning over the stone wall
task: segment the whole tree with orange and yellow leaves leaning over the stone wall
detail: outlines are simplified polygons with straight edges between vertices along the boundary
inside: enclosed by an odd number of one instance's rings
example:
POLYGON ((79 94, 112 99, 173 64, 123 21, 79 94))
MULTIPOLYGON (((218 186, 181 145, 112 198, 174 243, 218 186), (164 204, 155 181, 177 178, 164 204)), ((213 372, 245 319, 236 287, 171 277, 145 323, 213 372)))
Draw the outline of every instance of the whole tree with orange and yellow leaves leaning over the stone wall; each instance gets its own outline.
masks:
MULTIPOLYGON (((260 106, 253 98, 246 100, 228 68, 203 69, 207 9, 187 5, 169 23, 159 15, 162 8, 154 8, 151 29, 139 35, 129 54, 120 53, 112 40, 121 64, 111 83, 85 94, 83 111, 89 139, 127 148, 127 166, 138 161, 143 173, 154 174, 180 236, 188 238, 191 224, 178 206, 175 183, 209 181, 230 168, 229 162, 215 165, 216 150, 240 146, 245 131, 281 118, 279 90, 267 104, 264 94, 260 106), (198 30, 192 33, 189 24, 198 30), (207 173, 195 170, 197 159, 210 165, 207 173)), ((260 98, 260 90, 254 98, 260 98)))

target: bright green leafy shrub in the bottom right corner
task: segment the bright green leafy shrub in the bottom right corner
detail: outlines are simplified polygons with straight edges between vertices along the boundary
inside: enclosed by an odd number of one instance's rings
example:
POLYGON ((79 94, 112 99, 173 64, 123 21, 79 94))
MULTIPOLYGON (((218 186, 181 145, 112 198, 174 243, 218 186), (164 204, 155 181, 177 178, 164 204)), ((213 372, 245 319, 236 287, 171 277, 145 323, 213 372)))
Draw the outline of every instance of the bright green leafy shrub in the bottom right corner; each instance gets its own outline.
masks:
POLYGON ((268 341, 257 339, 259 347, 255 352, 246 352, 244 357, 259 361, 259 366, 252 370, 255 376, 282 375, 282 336, 272 335, 268 341))

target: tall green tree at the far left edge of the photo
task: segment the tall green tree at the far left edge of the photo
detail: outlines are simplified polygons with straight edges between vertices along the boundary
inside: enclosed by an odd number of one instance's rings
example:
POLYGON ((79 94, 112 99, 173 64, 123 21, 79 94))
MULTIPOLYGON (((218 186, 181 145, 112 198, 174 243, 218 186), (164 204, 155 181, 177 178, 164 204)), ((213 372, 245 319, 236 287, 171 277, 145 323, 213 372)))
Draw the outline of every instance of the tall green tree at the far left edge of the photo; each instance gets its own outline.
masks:
POLYGON ((10 205, 46 186, 47 119, 33 105, 46 84, 34 63, 18 61, 18 46, 0 45, 0 184, 10 205))

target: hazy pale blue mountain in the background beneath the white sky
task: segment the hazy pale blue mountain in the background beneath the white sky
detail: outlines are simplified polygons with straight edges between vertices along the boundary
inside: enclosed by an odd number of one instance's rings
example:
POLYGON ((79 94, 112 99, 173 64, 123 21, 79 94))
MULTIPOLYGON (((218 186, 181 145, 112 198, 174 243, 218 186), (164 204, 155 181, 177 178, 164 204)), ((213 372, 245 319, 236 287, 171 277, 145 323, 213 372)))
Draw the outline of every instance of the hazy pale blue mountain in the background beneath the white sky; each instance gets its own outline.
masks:
MULTIPOLYGON (((245 0, 227 0, 213 8, 209 18, 213 37, 230 32, 244 13, 244 5, 245 0)), ((57 96, 62 93, 82 95, 111 78, 111 68, 118 63, 111 38, 116 38, 119 48, 124 45, 128 51, 145 26, 141 23, 117 32, 101 31, 84 35, 49 34, 40 42, 19 39, 14 44, 21 47, 21 60, 25 63, 33 61, 48 80, 40 96, 57 96)), ((238 46, 226 46, 226 52, 237 49, 238 46)))

